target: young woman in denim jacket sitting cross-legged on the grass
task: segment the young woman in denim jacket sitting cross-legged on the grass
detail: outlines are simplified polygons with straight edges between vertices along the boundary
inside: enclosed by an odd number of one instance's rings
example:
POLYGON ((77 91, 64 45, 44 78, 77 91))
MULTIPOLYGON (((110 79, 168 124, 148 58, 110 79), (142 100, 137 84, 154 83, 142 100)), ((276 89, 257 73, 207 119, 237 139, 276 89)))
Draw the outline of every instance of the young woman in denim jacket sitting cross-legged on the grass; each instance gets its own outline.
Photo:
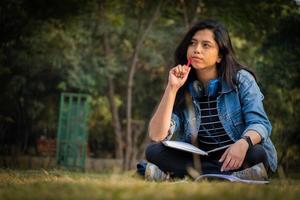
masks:
POLYGON ((176 177, 198 164, 204 174, 231 174, 258 163, 275 171, 277 156, 263 95, 254 74, 236 60, 224 26, 214 20, 195 24, 177 47, 175 63, 149 124, 153 143, 146 159, 176 177), (206 151, 224 149, 195 159, 161 143, 174 137, 206 151))

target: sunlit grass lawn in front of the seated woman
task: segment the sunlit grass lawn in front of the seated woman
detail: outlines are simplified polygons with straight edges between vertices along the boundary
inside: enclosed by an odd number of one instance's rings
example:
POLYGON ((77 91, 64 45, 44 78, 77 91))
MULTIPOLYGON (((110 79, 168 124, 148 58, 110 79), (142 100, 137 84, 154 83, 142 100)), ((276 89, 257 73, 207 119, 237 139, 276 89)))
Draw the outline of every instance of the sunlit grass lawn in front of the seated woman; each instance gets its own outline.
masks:
POLYGON ((299 199, 300 180, 274 179, 268 185, 229 182, 146 182, 124 174, 59 170, 0 170, 0 199, 299 199))

